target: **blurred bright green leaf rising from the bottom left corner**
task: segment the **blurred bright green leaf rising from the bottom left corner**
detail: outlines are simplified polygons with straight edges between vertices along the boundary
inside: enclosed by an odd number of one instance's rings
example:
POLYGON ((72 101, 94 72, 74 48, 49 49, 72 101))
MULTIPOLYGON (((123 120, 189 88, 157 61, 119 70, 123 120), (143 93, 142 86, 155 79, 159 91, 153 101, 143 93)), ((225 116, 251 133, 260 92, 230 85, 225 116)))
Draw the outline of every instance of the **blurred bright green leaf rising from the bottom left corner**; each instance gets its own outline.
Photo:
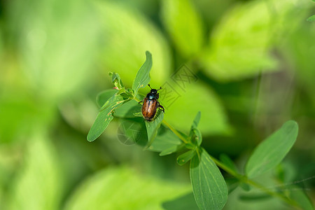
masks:
POLYGON ((62 160, 58 158, 50 134, 45 134, 43 130, 48 128, 36 127, 36 133, 29 135, 25 141, 25 156, 21 157, 23 161, 7 191, 10 192, 8 209, 54 210, 60 207, 65 184, 62 160))

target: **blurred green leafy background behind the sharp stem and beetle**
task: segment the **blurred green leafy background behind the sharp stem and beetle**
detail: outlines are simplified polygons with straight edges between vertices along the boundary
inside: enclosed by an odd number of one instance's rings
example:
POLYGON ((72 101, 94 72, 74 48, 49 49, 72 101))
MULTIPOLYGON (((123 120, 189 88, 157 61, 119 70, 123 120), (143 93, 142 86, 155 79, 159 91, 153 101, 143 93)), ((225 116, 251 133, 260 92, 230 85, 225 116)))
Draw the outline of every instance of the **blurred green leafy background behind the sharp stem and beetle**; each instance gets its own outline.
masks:
MULTIPOLYGON (((176 155, 118 141, 121 119, 96 141, 86 140, 97 94, 113 87, 108 72, 131 87, 146 50, 154 87, 183 64, 198 78, 165 119, 187 133, 201 111, 203 146, 214 157, 229 155, 241 170, 260 141, 296 120, 292 151, 258 180, 269 188, 279 177, 287 185, 298 181, 314 202, 315 23, 307 22, 314 6, 1 0, 0 209, 163 209, 191 192, 188 165, 176 165, 176 155)), ((225 209, 290 209, 274 198, 241 199, 242 193, 232 192, 225 209)))

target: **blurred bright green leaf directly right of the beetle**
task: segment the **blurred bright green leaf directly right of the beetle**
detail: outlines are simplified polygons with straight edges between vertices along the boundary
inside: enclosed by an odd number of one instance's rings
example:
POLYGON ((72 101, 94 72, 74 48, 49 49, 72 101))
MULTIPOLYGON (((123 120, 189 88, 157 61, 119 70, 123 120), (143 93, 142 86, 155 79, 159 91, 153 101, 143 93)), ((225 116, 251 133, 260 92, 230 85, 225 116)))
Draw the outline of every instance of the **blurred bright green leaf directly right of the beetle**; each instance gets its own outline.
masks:
MULTIPOLYGON (((180 97, 168 106, 165 112, 165 120, 174 125, 176 130, 190 130, 191 125, 187 122, 193 121, 196 113, 201 111, 202 118, 200 118, 198 129, 202 134, 226 134, 230 132, 224 106, 209 86, 198 82, 193 85, 186 84, 186 92, 179 93, 181 94, 180 97)), ((167 99, 169 99, 169 95, 163 96, 161 92, 159 102, 162 106, 167 104, 167 99)))

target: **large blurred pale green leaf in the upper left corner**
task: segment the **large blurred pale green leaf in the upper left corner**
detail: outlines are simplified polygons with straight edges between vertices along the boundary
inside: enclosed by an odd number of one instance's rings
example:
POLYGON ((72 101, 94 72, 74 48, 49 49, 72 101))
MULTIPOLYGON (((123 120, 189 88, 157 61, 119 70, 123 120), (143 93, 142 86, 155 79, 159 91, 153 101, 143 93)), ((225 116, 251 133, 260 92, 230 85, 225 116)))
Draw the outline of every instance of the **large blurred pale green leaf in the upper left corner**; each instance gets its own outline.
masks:
POLYGON ((8 17, 22 70, 36 94, 58 102, 90 83, 99 27, 89 2, 16 1, 8 17))

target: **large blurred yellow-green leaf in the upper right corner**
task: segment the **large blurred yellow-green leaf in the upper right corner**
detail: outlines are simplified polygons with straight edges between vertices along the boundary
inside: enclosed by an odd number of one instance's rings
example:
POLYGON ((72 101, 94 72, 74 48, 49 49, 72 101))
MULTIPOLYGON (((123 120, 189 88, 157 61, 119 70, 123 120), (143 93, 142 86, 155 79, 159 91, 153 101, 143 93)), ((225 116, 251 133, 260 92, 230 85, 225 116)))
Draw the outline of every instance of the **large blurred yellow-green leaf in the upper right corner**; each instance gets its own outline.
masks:
POLYGON ((224 82, 281 70, 272 50, 305 22, 310 7, 300 0, 240 2, 211 33, 209 48, 201 58, 205 73, 224 82))

